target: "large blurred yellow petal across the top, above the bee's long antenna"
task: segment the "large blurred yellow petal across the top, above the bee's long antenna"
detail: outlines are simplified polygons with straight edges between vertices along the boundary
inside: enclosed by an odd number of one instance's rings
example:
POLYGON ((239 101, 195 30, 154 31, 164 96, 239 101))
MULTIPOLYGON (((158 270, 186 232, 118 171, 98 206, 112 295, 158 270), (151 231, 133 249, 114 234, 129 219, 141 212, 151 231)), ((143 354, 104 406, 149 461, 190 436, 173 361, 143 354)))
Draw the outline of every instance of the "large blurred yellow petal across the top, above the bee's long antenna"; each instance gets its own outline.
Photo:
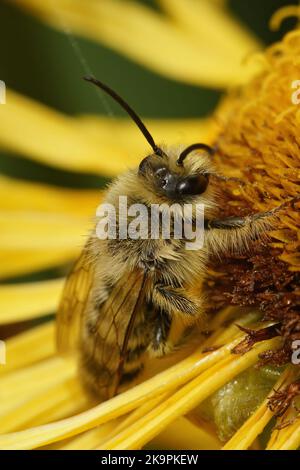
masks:
MULTIPOLYGON (((197 42, 170 18, 125 0, 14 1, 59 29, 105 43, 173 79, 221 88, 240 81, 240 64, 215 45, 212 28, 197 42)), ((197 9, 192 14, 197 18, 197 9)), ((226 28, 226 34, 235 30, 226 28)))

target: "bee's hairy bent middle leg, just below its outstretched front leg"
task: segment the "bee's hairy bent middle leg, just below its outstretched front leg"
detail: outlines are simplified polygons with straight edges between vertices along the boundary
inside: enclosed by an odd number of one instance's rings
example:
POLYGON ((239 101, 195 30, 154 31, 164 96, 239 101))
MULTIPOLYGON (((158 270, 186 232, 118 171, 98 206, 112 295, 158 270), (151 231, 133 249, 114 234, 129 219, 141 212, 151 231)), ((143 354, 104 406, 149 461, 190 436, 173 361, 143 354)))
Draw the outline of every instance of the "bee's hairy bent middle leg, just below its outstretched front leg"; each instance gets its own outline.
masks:
POLYGON ((188 295, 184 289, 156 284, 153 303, 160 309, 174 315, 197 317, 202 313, 200 300, 188 295))

